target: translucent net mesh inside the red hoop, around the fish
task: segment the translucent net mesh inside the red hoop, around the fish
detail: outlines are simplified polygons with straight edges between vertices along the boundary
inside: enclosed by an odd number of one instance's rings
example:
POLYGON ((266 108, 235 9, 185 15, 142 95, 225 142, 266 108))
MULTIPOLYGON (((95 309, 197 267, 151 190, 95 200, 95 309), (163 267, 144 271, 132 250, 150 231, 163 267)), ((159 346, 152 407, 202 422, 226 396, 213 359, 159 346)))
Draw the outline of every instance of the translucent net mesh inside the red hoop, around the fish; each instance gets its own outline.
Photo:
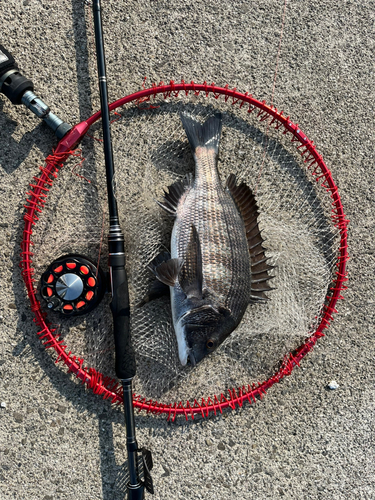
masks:
MULTIPOLYGON (((194 401, 267 379, 280 360, 313 333, 333 281, 340 242, 332 200, 308 172, 290 135, 259 120, 246 107, 204 95, 179 94, 131 102, 113 115, 115 193, 125 234, 132 336, 137 355, 135 391, 162 402, 194 401), (236 174, 256 193, 259 225, 270 264, 276 266, 266 304, 254 304, 239 327, 196 367, 182 367, 168 298, 135 307, 152 281, 147 264, 169 249, 173 219, 155 203, 163 189, 194 161, 179 113, 204 121, 223 113, 219 172, 223 184, 236 174)), ((35 278, 60 255, 80 253, 107 264, 106 181, 101 124, 82 141, 80 156, 59 172, 33 231, 35 278), (82 162, 81 158, 85 160, 82 162), (104 238, 103 238, 104 234, 104 238)), ((114 374, 110 297, 87 316, 48 313, 69 350, 85 364, 114 374)))

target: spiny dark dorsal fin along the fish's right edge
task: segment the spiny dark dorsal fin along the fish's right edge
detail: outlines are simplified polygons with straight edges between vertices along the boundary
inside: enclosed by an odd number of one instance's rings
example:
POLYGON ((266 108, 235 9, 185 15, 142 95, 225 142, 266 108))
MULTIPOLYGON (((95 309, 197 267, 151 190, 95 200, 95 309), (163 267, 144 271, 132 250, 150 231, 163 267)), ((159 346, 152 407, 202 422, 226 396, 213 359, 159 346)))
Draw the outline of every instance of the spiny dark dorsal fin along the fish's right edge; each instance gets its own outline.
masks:
POLYGON ((273 266, 267 264, 268 259, 265 256, 265 248, 263 247, 264 240, 258 226, 259 212, 255 196, 244 182, 237 186, 234 174, 229 175, 226 188, 232 195, 245 224, 251 263, 250 301, 267 300, 268 297, 264 292, 273 290, 267 283, 268 280, 274 278, 274 276, 268 274, 273 269, 273 266))

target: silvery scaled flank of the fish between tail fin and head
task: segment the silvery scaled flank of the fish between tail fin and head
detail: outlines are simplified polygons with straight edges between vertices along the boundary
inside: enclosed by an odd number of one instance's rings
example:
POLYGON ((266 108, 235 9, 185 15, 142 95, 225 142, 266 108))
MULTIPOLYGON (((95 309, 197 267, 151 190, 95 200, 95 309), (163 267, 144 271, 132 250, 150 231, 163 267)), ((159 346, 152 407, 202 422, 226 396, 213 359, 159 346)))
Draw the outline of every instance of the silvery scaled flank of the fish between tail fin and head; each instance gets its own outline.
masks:
POLYGON ((213 149, 195 151, 195 180, 176 210, 172 258, 186 258, 190 229, 202 246, 203 288, 238 315, 246 309, 251 282, 245 226, 231 195, 223 189, 213 149))

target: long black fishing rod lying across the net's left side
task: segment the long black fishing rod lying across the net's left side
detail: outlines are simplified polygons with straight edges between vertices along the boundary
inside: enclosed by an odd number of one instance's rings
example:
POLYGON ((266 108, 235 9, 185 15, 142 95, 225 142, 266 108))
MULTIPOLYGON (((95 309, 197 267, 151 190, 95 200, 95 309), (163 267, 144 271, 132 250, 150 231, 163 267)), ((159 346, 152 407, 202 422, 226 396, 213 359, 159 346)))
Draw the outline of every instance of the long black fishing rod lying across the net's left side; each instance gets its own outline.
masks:
POLYGON ((129 468, 129 482, 127 485, 128 498, 129 500, 141 500, 144 498, 145 487, 150 493, 153 493, 152 479, 149 473, 149 470, 152 468, 152 458, 150 451, 145 449, 138 450, 135 437, 132 381, 136 373, 136 361, 130 335, 129 291, 125 270, 124 235, 122 234, 119 225, 117 202, 113 190, 114 165, 100 0, 93 1, 93 15, 110 222, 108 234, 108 265, 110 270, 112 292, 111 311, 115 337, 115 367, 116 375, 122 382, 124 394, 123 398, 129 468), (143 481, 140 480, 138 451, 141 451, 142 454, 143 481))

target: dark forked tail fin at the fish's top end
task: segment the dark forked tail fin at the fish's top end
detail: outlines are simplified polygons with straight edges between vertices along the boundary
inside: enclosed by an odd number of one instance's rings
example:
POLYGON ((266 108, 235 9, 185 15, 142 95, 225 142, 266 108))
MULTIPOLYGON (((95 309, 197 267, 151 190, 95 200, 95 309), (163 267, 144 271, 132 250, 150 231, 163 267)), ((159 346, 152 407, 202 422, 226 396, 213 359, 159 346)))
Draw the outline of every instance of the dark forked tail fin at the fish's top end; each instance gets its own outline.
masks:
POLYGON ((210 116, 203 125, 187 113, 180 113, 180 118, 193 153, 197 147, 206 147, 214 149, 218 154, 222 127, 221 113, 210 116))

